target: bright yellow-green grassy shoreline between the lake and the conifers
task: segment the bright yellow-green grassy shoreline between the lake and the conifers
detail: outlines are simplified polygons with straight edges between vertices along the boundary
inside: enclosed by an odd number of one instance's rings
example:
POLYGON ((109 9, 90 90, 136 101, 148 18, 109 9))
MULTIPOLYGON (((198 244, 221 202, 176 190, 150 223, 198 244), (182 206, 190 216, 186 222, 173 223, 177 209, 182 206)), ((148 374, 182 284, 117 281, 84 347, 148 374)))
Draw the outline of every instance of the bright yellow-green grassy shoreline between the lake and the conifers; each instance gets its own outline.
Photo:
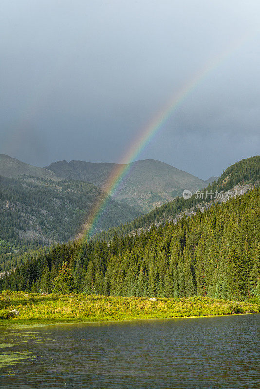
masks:
POLYGON ((257 312, 260 312, 260 304, 201 296, 150 301, 147 297, 0 293, 0 326, 196 318, 257 312), (17 317, 10 313, 13 309, 19 311, 17 317))

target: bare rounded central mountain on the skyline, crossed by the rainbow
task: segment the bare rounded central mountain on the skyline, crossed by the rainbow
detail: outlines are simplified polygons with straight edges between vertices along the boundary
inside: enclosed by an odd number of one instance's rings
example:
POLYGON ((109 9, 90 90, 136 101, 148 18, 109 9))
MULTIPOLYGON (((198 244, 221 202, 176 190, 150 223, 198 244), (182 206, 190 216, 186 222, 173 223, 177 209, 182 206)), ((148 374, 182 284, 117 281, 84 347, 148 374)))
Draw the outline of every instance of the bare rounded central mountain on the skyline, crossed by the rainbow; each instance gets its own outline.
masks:
MULTIPOLYGON (((76 179, 103 188, 113 171, 122 168, 115 163, 91 163, 83 161, 59 161, 46 169, 63 179, 76 179)), ((182 195, 184 189, 195 191, 207 183, 166 163, 146 159, 125 165, 130 172, 115 193, 117 200, 139 207, 142 212, 172 201, 182 195)))

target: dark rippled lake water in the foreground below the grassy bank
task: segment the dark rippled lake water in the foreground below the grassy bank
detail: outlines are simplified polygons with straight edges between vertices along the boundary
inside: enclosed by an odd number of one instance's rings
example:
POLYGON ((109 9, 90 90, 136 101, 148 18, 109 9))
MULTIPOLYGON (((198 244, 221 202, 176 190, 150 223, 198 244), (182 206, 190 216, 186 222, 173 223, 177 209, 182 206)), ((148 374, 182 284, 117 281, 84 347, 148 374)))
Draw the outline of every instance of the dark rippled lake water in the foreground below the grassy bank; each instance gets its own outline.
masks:
POLYGON ((0 329, 0 388, 260 388, 260 315, 0 329))

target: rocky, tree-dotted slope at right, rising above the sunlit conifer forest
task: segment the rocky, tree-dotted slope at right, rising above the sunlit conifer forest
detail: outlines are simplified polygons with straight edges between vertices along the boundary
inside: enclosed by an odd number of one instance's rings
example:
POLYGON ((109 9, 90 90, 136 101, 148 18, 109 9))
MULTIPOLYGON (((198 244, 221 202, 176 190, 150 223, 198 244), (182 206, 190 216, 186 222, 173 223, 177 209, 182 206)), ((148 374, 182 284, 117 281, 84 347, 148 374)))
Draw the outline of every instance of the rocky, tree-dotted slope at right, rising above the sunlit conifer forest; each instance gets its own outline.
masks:
POLYGON ((225 201, 227 196, 232 194, 232 192, 235 195, 236 190, 238 195, 240 191, 243 194, 253 186, 259 186, 259 182, 260 156, 242 159, 234 165, 229 166, 217 181, 207 185, 199 193, 193 193, 190 198, 184 199, 183 196, 177 197, 175 200, 154 208, 151 212, 138 217, 130 223, 102 232, 101 235, 97 235, 94 239, 109 241, 113 239, 115 234, 118 236, 131 234, 134 231, 140 231, 140 229, 147 230, 152 224, 163 224, 167 219, 174 221, 184 215, 189 216, 195 213, 198 207, 202 208, 203 211, 205 207, 209 207, 216 202, 221 203, 225 201), (207 191, 208 193, 212 193, 212 195, 206 196, 207 191), (223 192, 223 200, 218 195, 219 192, 223 192), (217 197, 215 198, 216 193, 217 197))

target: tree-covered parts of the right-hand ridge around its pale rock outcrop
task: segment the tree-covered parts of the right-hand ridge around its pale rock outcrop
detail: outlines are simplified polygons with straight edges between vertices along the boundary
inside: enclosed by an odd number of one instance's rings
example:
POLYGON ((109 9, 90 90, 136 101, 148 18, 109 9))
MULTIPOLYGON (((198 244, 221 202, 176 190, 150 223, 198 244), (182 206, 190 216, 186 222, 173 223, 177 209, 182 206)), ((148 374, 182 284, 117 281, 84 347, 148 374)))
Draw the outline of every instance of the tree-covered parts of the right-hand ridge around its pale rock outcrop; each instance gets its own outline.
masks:
POLYGON ((259 180, 260 156, 242 159, 234 165, 229 166, 217 181, 204 188, 203 198, 196 198, 195 194, 188 200, 185 200, 183 197, 177 197, 175 200, 154 208, 151 212, 136 218, 130 223, 126 223, 120 227, 112 227, 109 230, 102 232, 100 235, 95 236, 94 239, 105 239, 109 241, 113 238, 114 234, 122 236, 139 228, 146 229, 152 223, 160 222, 162 219, 166 219, 169 216, 174 218, 180 212, 196 207, 198 204, 207 204, 211 199, 210 197, 205 198, 206 191, 213 192, 214 200, 216 191, 228 191, 237 184, 251 183, 254 185, 255 183, 258 183, 259 180))

